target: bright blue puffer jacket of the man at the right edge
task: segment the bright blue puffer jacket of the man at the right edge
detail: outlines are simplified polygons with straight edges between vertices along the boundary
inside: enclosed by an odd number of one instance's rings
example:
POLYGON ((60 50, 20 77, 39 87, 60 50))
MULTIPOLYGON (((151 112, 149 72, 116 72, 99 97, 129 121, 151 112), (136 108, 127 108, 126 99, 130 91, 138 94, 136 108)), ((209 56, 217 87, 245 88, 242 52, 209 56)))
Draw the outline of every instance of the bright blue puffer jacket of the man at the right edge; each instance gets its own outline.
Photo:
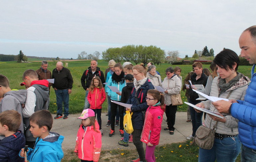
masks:
POLYGON ((242 144, 256 150, 256 73, 252 67, 251 83, 246 90, 244 101, 238 100, 231 107, 231 115, 239 120, 238 132, 242 144))

